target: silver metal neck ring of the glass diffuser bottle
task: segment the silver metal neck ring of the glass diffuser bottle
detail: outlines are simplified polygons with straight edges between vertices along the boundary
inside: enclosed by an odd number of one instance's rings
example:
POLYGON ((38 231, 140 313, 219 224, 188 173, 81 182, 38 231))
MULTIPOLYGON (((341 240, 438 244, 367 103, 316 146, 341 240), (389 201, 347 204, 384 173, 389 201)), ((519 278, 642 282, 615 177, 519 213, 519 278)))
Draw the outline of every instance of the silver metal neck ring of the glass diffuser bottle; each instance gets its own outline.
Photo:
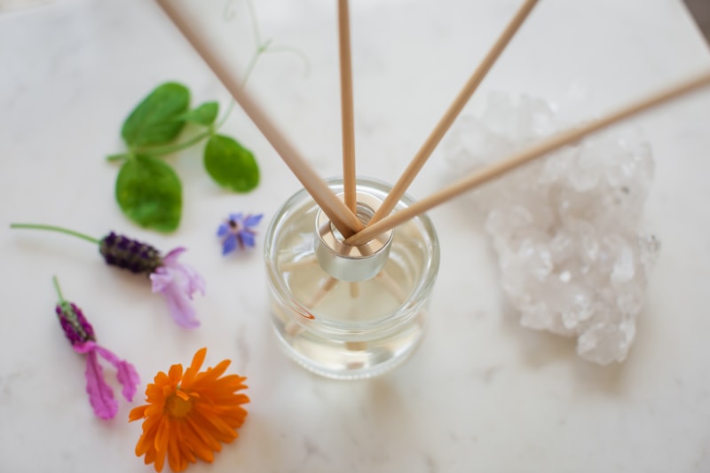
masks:
MULTIPOLYGON (((343 194, 338 194, 343 198, 343 194)), ((357 216, 364 225, 375 215, 382 201, 369 193, 357 193, 357 216)), ((337 280, 358 282, 374 278, 390 257, 393 230, 362 245, 347 245, 343 235, 319 209, 315 221, 315 254, 323 271, 337 280)))

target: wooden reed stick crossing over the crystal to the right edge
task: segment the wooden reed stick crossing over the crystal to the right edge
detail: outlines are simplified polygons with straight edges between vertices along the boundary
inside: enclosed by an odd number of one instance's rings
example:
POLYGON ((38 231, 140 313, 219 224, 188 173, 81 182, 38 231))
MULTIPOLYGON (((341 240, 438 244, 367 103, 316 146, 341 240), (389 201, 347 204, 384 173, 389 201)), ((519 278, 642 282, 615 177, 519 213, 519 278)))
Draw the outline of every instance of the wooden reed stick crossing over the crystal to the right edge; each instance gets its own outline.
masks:
POLYGON ((398 212, 390 215, 390 217, 386 217, 374 225, 368 225, 365 230, 346 239, 345 243, 350 245, 360 245, 372 240, 377 235, 387 232, 397 225, 403 224, 410 218, 416 217, 427 210, 438 206, 439 204, 449 201, 459 194, 465 193, 469 189, 476 187, 477 185, 481 185, 496 177, 500 177, 509 170, 515 169, 526 162, 539 158, 540 156, 554 151, 564 145, 569 145, 590 133, 602 130, 613 123, 620 122, 621 120, 643 112, 653 106, 659 106, 671 99, 676 99, 686 93, 689 93, 690 91, 696 91, 699 88, 708 85, 710 85, 710 72, 706 72, 702 75, 693 77, 690 80, 678 83, 675 86, 667 88, 666 90, 656 92, 645 99, 637 100, 630 105, 617 109, 603 118, 588 122, 579 128, 557 133, 550 138, 540 141, 540 143, 536 145, 530 146, 522 151, 510 155, 507 159, 500 162, 494 162, 482 169, 472 172, 468 177, 464 177, 453 185, 450 185, 437 193, 433 193, 430 197, 414 203, 411 207, 399 210, 398 212))

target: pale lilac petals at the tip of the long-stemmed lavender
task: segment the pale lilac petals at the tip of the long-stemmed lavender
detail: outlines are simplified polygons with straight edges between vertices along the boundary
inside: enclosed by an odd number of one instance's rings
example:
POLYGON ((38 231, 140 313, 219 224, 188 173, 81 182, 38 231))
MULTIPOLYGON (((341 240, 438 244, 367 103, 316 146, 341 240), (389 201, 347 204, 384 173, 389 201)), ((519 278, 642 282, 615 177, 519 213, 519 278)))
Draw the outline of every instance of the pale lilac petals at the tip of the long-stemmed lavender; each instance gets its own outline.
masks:
POLYGON ((194 328, 200 325, 190 301, 195 292, 205 294, 205 281, 200 274, 186 264, 177 262, 185 248, 175 248, 162 258, 162 264, 150 274, 153 292, 162 293, 168 303, 170 314, 178 325, 194 328))

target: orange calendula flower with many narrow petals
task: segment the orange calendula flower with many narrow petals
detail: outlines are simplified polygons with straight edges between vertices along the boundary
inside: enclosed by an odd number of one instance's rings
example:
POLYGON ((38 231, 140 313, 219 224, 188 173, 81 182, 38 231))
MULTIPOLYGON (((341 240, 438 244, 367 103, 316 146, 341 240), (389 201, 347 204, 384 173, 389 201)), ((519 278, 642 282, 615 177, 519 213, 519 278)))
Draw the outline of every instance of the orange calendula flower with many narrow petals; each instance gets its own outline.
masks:
POLYGON ((182 365, 173 365, 168 374, 155 375, 146 388, 146 406, 130 411, 130 422, 144 419, 143 435, 136 445, 136 455, 146 455, 146 464, 154 463, 162 471, 165 457, 173 471, 183 471, 196 459, 212 462, 222 444, 237 438, 244 423, 248 403, 247 379, 225 373, 230 361, 200 372, 207 353, 202 348, 183 374, 182 365))

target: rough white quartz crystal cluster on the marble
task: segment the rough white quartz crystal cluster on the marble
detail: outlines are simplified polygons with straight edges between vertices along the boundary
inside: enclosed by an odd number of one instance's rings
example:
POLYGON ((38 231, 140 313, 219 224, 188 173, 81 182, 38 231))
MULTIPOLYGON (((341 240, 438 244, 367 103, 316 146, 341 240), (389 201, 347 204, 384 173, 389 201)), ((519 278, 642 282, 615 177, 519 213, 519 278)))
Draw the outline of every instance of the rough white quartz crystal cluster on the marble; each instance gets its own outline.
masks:
MULTIPOLYGON (((490 97, 462 115, 443 153, 456 175, 561 130, 548 102, 490 97)), ((640 228, 653 176, 635 133, 597 134, 471 193, 521 324, 577 338, 583 359, 623 361, 659 241, 640 228)))

